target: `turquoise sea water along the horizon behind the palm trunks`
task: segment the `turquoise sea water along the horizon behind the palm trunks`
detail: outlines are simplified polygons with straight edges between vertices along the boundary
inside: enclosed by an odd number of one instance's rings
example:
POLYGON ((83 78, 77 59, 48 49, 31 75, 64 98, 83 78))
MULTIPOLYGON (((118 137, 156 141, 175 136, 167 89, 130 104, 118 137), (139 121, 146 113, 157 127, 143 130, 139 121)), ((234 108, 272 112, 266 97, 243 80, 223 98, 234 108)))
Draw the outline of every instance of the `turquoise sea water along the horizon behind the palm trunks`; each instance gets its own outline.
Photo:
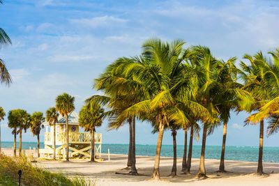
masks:
MULTIPOLYGON (((13 142, 1 142, 3 148, 12 148, 13 142)), ((18 146, 18 144, 17 144, 18 146)), ((33 149, 37 144, 33 142, 22 142, 22 148, 33 149)), ((43 143, 40 148, 44 148, 43 143)), ((102 153, 107 153, 110 148, 110 153, 113 154, 128 154, 128 144, 102 144, 102 153)), ((183 156, 183 146, 177 146, 177 157, 183 156)), ((193 157, 199 158, 202 146, 193 146, 193 157)), ((220 159, 221 146, 206 146, 205 157, 207 159, 220 159)), ((154 156, 156 145, 137 145, 137 155, 154 156)), ((227 146, 225 152, 225 160, 239 160, 246 162, 257 162, 259 148, 257 146, 227 146)), ((163 145, 161 156, 172 157, 173 151, 171 145, 163 145)), ((279 147, 264 147, 264 162, 279 163, 279 147)))

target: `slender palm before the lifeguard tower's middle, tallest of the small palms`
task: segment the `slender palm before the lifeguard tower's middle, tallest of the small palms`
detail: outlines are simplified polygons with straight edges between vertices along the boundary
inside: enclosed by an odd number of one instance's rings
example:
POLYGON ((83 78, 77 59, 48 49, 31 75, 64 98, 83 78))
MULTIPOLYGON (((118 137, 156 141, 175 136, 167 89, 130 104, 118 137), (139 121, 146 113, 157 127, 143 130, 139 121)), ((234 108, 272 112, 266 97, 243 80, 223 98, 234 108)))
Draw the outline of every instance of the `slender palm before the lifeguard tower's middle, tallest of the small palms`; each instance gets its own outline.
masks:
POLYGON ((68 115, 75 109, 75 98, 63 93, 56 97, 56 109, 61 116, 66 117, 66 161, 69 161, 69 130, 68 130, 68 115))

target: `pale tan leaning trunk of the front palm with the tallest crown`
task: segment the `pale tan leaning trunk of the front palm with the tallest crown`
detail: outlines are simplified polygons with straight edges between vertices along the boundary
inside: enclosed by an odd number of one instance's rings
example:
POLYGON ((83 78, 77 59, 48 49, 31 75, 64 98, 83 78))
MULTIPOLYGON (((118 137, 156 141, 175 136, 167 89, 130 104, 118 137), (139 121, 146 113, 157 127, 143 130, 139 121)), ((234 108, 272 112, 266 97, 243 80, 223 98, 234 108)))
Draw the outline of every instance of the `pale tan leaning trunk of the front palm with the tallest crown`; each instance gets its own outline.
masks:
POLYGON ((164 124, 162 122, 162 115, 159 116, 159 134, 158 134, 158 141, 156 146, 156 155, 155 155, 155 162, 154 162, 154 169, 152 173, 152 178, 159 180, 160 179, 160 171, 159 171, 159 165, 160 165, 160 152, 162 147, 162 141, 163 141, 163 134, 164 134, 164 124))

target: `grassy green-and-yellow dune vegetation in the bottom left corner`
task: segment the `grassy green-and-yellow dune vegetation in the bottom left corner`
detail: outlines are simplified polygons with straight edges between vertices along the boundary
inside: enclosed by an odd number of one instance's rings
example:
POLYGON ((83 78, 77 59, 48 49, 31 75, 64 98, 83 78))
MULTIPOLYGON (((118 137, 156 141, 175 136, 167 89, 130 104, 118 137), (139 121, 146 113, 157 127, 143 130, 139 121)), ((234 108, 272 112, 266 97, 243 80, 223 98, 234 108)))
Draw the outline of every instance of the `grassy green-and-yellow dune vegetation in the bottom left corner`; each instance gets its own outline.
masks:
POLYGON ((82 176, 70 178, 63 173, 51 173, 37 168, 27 157, 8 157, 0 153, 0 185, 18 185, 18 170, 22 170, 22 185, 93 186, 95 181, 82 176))

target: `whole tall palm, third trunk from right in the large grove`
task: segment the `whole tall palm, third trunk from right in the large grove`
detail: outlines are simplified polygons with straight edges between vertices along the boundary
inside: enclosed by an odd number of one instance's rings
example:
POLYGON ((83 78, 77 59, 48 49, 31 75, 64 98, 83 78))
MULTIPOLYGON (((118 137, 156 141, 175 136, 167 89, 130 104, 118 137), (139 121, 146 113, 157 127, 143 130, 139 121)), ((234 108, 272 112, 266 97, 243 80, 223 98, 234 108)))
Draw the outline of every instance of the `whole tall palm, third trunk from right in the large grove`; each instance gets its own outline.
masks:
MULTIPOLYGON (((197 68, 203 71, 203 75, 199 77, 199 100, 201 104, 209 111, 208 118, 204 118, 202 132, 202 150, 199 160, 199 171, 197 178, 206 178, 206 169, 204 166, 204 155, 206 148, 206 136, 208 128, 218 121, 218 109, 216 108, 216 97, 220 91, 220 86, 216 81, 216 73, 218 72, 218 61, 212 56, 211 51, 207 47, 195 46, 191 48, 195 55, 193 61, 197 68)), ((220 96, 220 95, 219 95, 220 96)))

